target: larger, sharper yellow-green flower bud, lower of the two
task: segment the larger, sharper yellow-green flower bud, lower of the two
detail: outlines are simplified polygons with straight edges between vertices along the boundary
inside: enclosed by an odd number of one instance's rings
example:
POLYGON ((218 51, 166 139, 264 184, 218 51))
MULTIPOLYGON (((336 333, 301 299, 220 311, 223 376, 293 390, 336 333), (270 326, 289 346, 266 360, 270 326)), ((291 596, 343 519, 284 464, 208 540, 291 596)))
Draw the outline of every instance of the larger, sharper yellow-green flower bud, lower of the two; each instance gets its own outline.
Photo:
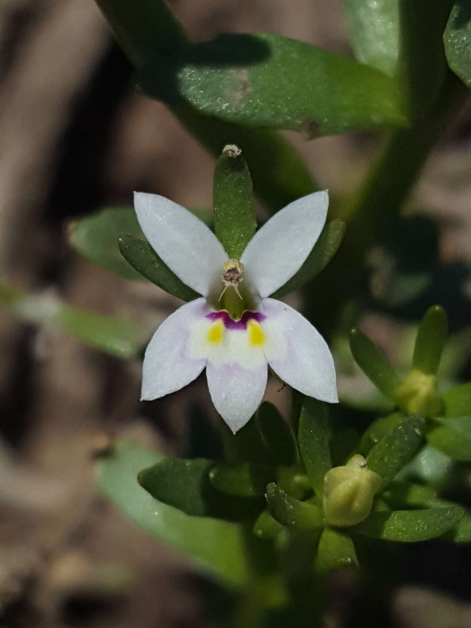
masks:
POLYGON ((358 453, 344 467, 334 467, 324 477, 324 517, 330 526, 348 528, 366 519, 382 479, 358 453))

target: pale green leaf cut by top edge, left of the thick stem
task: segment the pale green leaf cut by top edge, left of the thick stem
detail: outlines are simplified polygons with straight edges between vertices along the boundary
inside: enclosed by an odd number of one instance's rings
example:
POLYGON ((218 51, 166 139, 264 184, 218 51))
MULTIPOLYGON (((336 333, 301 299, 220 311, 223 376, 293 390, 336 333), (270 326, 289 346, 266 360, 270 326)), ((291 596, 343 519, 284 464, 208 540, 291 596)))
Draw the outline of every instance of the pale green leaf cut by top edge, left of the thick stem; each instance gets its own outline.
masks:
POLYGON ((393 76, 398 64, 398 0, 344 0, 355 57, 393 76))

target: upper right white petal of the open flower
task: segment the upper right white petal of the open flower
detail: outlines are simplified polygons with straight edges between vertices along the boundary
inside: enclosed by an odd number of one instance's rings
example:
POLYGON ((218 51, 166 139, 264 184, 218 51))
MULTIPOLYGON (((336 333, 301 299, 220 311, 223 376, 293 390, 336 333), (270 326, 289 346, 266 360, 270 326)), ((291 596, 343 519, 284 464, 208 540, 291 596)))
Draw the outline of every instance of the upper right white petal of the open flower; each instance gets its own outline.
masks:
POLYGON ((252 237, 241 255, 248 281, 262 298, 298 272, 325 224, 328 192, 298 198, 275 214, 252 237))

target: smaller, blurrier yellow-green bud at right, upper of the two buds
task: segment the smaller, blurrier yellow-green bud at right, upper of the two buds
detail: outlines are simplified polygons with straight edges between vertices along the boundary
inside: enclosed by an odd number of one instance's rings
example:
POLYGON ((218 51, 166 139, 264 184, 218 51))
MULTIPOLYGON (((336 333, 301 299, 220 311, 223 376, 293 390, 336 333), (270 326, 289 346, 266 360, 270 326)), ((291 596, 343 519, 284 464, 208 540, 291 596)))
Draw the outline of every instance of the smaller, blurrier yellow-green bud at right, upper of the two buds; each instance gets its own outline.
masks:
POLYGON ((422 371, 412 369, 396 388, 394 398, 407 414, 424 416, 441 414, 443 404, 438 394, 438 381, 435 375, 426 375, 422 371))

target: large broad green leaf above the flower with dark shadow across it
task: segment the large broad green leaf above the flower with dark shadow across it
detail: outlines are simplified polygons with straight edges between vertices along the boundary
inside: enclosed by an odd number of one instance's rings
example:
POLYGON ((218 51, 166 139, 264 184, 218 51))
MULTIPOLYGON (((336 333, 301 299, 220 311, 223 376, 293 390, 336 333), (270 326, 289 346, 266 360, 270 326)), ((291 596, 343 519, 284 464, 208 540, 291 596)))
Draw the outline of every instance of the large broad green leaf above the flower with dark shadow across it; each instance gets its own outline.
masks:
POLYGON ((406 126, 395 82, 360 63, 279 35, 220 35, 138 73, 151 97, 183 97, 198 111, 306 138, 406 126), (283 89, 280 89, 283 85, 283 89))

